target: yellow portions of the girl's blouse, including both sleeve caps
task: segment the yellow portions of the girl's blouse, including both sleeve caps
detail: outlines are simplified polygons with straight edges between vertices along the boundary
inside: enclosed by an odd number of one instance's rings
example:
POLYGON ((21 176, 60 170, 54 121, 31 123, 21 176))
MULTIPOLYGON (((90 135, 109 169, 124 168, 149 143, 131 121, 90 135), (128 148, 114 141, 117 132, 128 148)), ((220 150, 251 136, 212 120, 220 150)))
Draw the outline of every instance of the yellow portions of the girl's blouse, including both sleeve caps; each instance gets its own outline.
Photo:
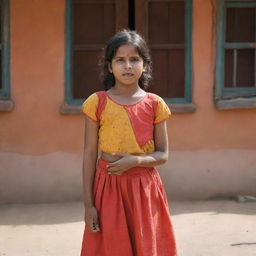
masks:
MULTIPOLYGON (((159 96, 157 98, 155 124, 166 120, 171 114, 164 100, 159 96)), ((98 104, 98 95, 93 93, 84 101, 82 111, 93 121, 99 121, 99 148, 101 151, 134 155, 145 155, 155 151, 154 140, 150 140, 140 147, 124 106, 106 98, 105 108, 101 113, 101 119, 98 120, 96 115, 98 104)))

